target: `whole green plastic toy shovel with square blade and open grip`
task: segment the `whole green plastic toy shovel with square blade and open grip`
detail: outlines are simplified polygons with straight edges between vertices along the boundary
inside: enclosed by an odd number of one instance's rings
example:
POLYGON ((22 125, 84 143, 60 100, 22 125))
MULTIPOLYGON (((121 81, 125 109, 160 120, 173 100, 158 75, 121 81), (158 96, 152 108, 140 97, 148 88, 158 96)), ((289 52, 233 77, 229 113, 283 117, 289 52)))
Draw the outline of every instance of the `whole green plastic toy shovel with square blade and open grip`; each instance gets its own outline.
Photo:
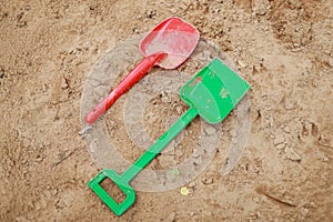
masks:
POLYGON ((103 169, 88 185, 117 214, 123 214, 135 201, 135 192, 130 182, 143 170, 198 114, 206 122, 221 122, 240 102, 250 85, 240 75, 214 59, 180 90, 180 97, 190 109, 155 141, 128 170, 118 174, 111 169, 103 169), (100 185, 105 179, 125 193, 125 199, 115 202, 100 185))

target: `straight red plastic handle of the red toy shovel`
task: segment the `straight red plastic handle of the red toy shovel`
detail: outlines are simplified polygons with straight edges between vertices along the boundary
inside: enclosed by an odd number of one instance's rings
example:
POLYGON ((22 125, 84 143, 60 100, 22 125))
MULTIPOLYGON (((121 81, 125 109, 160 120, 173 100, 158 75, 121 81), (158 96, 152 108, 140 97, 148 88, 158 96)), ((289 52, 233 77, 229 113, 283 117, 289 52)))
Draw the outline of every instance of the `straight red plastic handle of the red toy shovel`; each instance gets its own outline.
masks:
POLYGON ((167 53, 160 52, 145 57, 137 67, 130 71, 130 73, 117 85, 117 88, 108 94, 108 97, 99 103, 93 110, 91 110, 85 117, 84 121, 88 124, 92 124, 99 117, 104 114, 110 107, 131 89, 149 70, 158 62, 163 60, 167 57, 167 53))

